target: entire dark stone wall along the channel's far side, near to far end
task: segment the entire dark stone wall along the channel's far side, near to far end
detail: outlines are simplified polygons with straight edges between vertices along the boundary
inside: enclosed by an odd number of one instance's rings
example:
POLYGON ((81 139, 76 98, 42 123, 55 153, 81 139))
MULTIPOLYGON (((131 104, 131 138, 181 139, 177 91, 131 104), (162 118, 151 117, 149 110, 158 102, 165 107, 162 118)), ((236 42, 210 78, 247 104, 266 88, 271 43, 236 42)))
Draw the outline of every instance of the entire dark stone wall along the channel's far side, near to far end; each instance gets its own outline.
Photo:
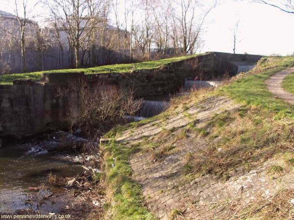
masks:
POLYGON ((158 69, 97 75, 50 73, 42 76, 43 83, 39 85, 29 80, 16 81, 17 85, 0 86, 0 137, 23 137, 62 127, 67 115, 77 109, 78 94, 70 90, 67 97, 61 97, 60 88, 67 88, 80 79, 86 80, 89 86, 113 85, 125 92, 131 89, 136 97, 170 94, 178 91, 187 78, 216 79, 225 71, 234 75, 237 68, 231 61, 257 62, 260 58, 212 52, 158 69), (28 85, 21 85, 23 83, 28 85))

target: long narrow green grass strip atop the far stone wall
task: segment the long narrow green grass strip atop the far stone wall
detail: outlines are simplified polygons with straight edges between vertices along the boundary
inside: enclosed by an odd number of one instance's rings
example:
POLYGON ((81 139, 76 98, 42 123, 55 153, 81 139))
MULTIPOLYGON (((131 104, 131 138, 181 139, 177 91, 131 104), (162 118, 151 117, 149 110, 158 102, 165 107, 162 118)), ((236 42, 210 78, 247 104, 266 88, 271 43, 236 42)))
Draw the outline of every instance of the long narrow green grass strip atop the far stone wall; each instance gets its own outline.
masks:
POLYGON ((30 72, 30 73, 15 73, 15 74, 5 74, 0 75, 0 85, 11 85, 14 79, 19 78, 31 78, 32 80, 39 80, 42 73, 45 72, 85 72, 85 74, 101 74, 101 73, 129 73, 134 70, 140 69, 154 69, 160 66, 166 66, 170 63, 186 60, 197 55, 187 55, 181 57, 172 57, 168 59, 147 61, 142 63, 132 63, 132 64, 115 64, 115 65, 106 65, 106 66, 96 66, 91 68, 76 68, 76 69, 58 69, 58 70, 49 70, 49 71, 40 71, 40 72, 30 72))

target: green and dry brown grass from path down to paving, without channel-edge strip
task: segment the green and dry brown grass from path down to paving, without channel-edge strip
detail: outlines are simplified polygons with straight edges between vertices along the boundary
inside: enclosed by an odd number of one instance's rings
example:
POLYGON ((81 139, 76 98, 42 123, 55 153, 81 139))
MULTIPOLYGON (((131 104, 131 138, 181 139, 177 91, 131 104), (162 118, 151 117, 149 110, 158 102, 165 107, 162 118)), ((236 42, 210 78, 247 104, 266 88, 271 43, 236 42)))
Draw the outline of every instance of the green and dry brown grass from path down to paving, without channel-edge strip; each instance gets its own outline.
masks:
MULTIPOLYGON (((215 115, 204 127, 188 125, 198 137, 221 139, 193 154, 193 162, 184 167, 186 175, 196 178, 212 174, 227 180, 236 168, 249 171, 274 154, 291 151, 294 107, 275 98, 265 84, 272 74, 289 66, 294 66, 294 57, 263 58, 251 72, 211 92, 210 95, 228 96, 243 106, 215 115)), ((291 163, 292 158, 288 161, 291 163)), ((278 168, 270 172, 278 172, 278 168)))

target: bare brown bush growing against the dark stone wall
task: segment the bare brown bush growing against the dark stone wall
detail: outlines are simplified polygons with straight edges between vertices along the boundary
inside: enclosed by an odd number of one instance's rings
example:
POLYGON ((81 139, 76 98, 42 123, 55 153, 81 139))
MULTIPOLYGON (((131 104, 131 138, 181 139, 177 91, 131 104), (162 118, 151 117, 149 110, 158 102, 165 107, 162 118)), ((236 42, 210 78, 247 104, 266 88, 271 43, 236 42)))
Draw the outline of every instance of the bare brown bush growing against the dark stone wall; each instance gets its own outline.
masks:
POLYGON ((71 129, 80 128, 95 135, 111 128, 124 115, 134 115, 142 104, 141 99, 134 99, 131 89, 125 92, 112 85, 89 86, 84 80, 59 91, 69 99, 71 111, 67 121, 71 129))

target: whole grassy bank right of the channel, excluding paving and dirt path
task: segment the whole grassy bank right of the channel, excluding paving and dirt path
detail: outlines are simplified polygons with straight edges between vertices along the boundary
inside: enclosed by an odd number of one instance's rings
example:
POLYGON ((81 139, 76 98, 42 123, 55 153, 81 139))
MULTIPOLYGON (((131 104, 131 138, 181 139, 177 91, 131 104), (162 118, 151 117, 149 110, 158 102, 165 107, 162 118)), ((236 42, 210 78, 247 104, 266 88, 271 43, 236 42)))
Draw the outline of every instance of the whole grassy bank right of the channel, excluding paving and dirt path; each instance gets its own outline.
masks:
MULTIPOLYGON (((154 219, 144 205, 140 184, 131 178, 129 158, 142 149, 150 151, 155 159, 160 160, 180 150, 174 147, 171 150, 171 143, 177 146, 189 138, 204 139, 208 143, 205 149, 185 155, 187 162, 181 174, 183 181, 192 181, 205 175, 213 175, 220 181, 227 181, 234 176, 236 170, 248 172, 257 169, 273 157, 282 161, 282 165, 274 164, 269 167, 269 175, 278 175, 277 172, 281 171, 283 174, 292 172, 294 107, 275 98, 265 84, 265 80, 272 74, 290 66, 294 66, 293 57, 263 58, 252 71, 239 75, 221 88, 208 92, 197 91, 175 98, 167 112, 143 122, 117 127, 109 132, 108 137, 114 138, 123 130, 131 129, 135 132, 145 124, 163 126, 162 120, 175 117, 179 113, 193 118, 194 115, 189 115, 186 111, 199 106, 199 102, 205 102, 210 96, 227 96, 242 104, 242 107, 234 111, 215 115, 201 127, 196 120, 178 131, 163 129, 161 133, 147 139, 143 137, 140 144, 124 145, 112 141, 111 144, 105 145, 104 179, 110 199, 107 206, 110 219, 154 219)), ((250 207, 256 205, 257 203, 252 203, 250 207)), ((289 212, 288 206, 278 212, 270 208, 272 207, 266 207, 258 212, 258 215, 263 218, 270 212, 272 218, 278 218, 289 212)), ((256 216, 256 213, 248 212, 244 218, 253 216, 256 216)))

